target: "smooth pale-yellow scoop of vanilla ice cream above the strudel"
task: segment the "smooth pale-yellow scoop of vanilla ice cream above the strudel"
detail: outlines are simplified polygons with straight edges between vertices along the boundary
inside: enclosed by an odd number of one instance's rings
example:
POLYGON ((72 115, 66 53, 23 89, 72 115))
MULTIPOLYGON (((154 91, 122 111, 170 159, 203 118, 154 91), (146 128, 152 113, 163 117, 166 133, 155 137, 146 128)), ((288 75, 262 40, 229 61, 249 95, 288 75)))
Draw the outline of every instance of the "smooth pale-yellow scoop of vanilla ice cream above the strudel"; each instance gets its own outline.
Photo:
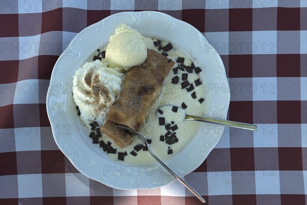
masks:
POLYGON ((121 67, 125 70, 140 66, 147 58, 144 37, 135 29, 123 25, 110 36, 105 50, 105 60, 110 67, 121 67))

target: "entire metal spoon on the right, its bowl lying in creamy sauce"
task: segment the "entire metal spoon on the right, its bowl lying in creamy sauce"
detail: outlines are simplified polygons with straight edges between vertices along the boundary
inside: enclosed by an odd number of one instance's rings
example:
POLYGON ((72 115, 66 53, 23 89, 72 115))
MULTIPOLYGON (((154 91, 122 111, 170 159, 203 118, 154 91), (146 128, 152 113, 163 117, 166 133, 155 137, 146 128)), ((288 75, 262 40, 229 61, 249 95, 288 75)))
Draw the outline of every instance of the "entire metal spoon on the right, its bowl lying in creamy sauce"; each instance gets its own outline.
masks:
MULTIPOLYGON (((164 105, 158 108, 157 110, 157 117, 161 117, 162 115, 159 113, 159 110, 169 110, 171 111, 173 108, 172 105, 164 105)), ((223 120, 223 119, 213 119, 213 118, 207 118, 207 117, 198 117, 198 116, 193 116, 193 115, 187 115, 185 113, 185 110, 178 107, 178 111, 180 114, 184 117, 184 120, 192 120, 192 121, 202 121, 202 122, 210 122, 218 125, 225 125, 233 128, 240 128, 240 129, 245 129, 245 130, 252 130, 256 131, 257 126, 252 125, 252 124, 247 124, 243 122, 235 122, 235 121, 229 121, 229 120, 223 120)))

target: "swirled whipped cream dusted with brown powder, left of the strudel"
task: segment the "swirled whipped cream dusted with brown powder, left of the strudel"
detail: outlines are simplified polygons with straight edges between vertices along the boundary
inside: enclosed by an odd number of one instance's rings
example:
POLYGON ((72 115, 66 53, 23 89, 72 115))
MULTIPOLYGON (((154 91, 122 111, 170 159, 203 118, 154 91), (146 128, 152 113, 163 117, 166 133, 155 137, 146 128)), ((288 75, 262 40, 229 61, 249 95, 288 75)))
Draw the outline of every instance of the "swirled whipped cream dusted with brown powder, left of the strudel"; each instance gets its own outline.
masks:
POLYGON ((97 121, 104 125, 108 111, 119 98, 123 74, 95 60, 79 68, 73 79, 73 98, 79 107, 83 124, 97 121))

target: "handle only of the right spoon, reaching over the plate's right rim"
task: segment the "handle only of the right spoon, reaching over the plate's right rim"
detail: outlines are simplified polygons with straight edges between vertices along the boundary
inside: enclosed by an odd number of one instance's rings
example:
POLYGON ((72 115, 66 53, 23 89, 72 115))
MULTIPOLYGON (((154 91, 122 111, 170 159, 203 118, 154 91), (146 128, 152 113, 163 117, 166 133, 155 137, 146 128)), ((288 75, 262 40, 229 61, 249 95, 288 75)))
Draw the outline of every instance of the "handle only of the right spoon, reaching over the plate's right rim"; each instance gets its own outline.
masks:
POLYGON ((228 126, 228 127, 241 128, 241 129, 252 130, 252 131, 257 130, 256 125, 247 124, 247 123, 243 123, 243 122, 228 121, 228 120, 223 120, 223 119, 212 119, 212 118, 206 118, 206 117, 197 117, 197 116, 192 116, 192 115, 186 115, 185 120, 210 122, 210 123, 214 123, 214 124, 218 124, 218 125, 225 125, 225 126, 228 126))

